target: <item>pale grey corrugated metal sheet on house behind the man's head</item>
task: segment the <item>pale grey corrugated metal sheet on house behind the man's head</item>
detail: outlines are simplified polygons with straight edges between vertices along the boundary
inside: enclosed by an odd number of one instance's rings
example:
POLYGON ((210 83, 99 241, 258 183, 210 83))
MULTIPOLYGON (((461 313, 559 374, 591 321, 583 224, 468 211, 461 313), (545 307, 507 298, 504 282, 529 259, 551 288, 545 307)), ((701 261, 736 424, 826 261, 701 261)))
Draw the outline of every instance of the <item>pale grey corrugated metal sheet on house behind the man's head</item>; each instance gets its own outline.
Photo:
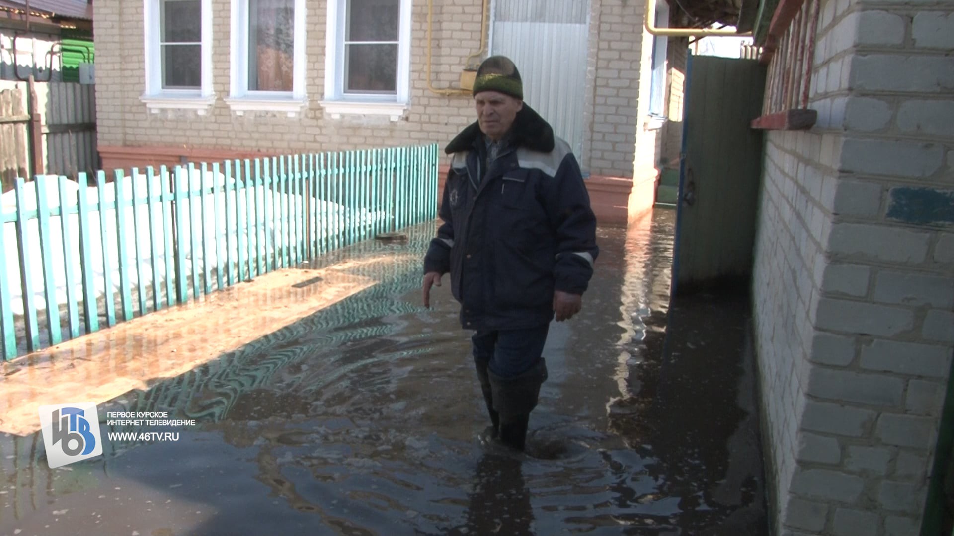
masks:
POLYGON ((583 161, 583 107, 589 48, 588 0, 497 0, 492 52, 508 56, 524 80, 524 100, 583 161))

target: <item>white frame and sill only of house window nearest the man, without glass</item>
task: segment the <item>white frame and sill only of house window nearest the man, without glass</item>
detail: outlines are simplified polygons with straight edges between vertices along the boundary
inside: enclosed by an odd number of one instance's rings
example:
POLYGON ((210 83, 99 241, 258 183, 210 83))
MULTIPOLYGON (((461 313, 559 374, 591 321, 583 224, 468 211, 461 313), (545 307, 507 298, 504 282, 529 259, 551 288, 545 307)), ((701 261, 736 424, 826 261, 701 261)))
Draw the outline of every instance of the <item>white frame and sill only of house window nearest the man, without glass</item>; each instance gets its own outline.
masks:
POLYGON ((344 93, 344 24, 348 1, 328 0, 324 99, 320 104, 333 118, 358 113, 388 115, 392 121, 397 121, 407 110, 410 95, 411 0, 400 0, 396 93, 387 95, 344 93))

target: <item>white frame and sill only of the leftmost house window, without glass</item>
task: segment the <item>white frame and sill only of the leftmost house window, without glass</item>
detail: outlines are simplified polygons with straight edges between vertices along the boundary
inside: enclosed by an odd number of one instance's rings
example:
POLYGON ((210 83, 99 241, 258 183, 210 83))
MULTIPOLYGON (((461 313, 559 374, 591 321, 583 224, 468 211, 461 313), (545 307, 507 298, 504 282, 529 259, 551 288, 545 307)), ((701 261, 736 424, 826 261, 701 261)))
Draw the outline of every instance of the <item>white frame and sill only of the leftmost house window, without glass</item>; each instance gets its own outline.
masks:
POLYGON ((166 0, 143 0, 146 88, 139 97, 152 113, 162 110, 195 110, 204 115, 216 102, 212 89, 212 0, 199 0, 202 12, 201 86, 197 90, 162 88, 162 35, 160 5, 166 0))

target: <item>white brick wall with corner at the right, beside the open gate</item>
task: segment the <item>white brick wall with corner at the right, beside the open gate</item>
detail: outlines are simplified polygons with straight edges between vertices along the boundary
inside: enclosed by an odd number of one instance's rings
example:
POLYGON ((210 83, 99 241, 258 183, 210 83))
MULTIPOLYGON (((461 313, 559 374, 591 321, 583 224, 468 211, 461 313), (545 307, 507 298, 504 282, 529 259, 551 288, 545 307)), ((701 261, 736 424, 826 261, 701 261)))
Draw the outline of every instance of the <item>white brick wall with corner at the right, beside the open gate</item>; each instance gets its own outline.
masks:
POLYGON ((822 0, 819 121, 768 134, 753 291, 779 534, 920 529, 954 223, 919 220, 904 192, 954 186, 952 21, 949 3, 822 0))

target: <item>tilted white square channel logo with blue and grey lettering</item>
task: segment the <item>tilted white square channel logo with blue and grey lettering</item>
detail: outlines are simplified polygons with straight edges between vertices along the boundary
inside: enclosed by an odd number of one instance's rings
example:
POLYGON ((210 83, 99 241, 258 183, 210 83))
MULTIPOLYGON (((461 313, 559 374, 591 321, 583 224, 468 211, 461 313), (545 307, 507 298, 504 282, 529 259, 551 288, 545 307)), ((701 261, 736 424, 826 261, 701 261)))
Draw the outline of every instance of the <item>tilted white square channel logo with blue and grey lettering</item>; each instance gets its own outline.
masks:
POLYGON ((39 411, 47 463, 51 468, 103 453, 95 402, 41 405, 39 411))

